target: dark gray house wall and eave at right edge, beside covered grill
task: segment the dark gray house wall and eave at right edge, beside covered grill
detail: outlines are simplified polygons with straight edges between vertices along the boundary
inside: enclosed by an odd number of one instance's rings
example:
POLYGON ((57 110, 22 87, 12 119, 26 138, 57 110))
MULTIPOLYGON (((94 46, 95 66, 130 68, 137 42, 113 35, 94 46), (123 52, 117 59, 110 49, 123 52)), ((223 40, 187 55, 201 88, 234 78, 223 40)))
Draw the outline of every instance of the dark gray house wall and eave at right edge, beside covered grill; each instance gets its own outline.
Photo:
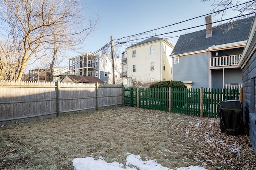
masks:
POLYGON ((251 138, 252 148, 256 154, 256 18, 252 23, 252 28, 246 46, 238 66, 242 68, 243 74, 243 106, 244 118, 251 138))

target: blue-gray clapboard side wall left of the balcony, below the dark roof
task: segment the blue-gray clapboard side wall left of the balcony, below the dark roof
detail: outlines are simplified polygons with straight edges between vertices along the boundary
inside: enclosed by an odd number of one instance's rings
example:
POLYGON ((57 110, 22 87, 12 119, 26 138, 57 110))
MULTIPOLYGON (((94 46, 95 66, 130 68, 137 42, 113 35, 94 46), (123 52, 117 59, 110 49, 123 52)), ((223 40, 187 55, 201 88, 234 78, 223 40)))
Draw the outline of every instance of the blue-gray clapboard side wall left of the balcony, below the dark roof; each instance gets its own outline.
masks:
POLYGON ((208 53, 179 57, 178 64, 173 60, 173 80, 192 81, 192 88, 208 88, 208 53))

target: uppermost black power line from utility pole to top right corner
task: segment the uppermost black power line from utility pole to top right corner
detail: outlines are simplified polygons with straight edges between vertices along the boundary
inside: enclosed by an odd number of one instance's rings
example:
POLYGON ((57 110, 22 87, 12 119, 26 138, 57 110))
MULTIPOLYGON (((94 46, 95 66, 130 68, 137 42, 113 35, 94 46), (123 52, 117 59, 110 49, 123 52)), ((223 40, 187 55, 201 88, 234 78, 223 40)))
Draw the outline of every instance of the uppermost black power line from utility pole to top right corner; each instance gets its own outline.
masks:
POLYGON ((171 24, 171 25, 167 25, 167 26, 164 26, 164 27, 152 29, 152 30, 150 30, 150 31, 145 31, 145 32, 142 32, 142 33, 137 33, 137 34, 134 34, 134 35, 129 35, 129 36, 122 37, 122 38, 118 38, 118 39, 113 39, 113 41, 118 41, 118 40, 123 39, 123 38, 133 37, 133 36, 135 36, 135 35, 140 35, 140 34, 148 33, 148 32, 151 32, 151 31, 155 31, 155 30, 157 30, 157 29, 162 29, 162 28, 165 28, 165 27, 170 27, 170 26, 172 26, 172 25, 177 25, 177 24, 179 24, 179 23, 183 23, 183 22, 186 22, 186 21, 194 20, 194 19, 196 19, 196 18, 200 18, 200 17, 207 16, 207 15, 210 15, 210 14, 215 14, 215 13, 217 13, 217 12, 222 12, 222 11, 224 11, 224 10, 228 10, 228 9, 230 9, 230 8, 234 8, 234 7, 236 7, 236 6, 240 6, 240 5, 243 5, 243 4, 247 4, 247 3, 250 3, 250 2, 253 2, 253 1, 256 1, 256 0, 251 0, 251 1, 249 1, 249 2, 244 2, 244 3, 242 3, 242 4, 238 4, 238 5, 229 7, 229 8, 225 8, 225 9, 223 9, 223 10, 218 10, 218 11, 216 11, 216 12, 212 12, 212 13, 209 13, 209 14, 204 14, 204 15, 202 15, 202 16, 198 16, 198 17, 194 17, 194 18, 191 18, 191 19, 188 19, 188 20, 184 20, 184 21, 180 21, 180 22, 177 22, 177 23, 173 23, 173 24, 171 24))

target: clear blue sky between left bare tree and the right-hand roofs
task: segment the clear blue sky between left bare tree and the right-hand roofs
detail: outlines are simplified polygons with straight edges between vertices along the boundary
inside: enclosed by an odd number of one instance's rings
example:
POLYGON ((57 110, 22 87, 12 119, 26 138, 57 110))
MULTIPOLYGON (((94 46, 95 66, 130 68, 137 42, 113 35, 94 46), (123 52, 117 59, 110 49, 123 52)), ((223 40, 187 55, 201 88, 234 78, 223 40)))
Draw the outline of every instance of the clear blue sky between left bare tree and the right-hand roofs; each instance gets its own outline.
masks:
MULTIPOLYGON (((88 18, 95 17, 98 14, 100 21, 98 22, 96 31, 94 31, 86 39, 84 45, 82 45, 82 49, 78 53, 70 53, 69 58, 101 49, 110 42, 110 36, 114 39, 114 52, 116 55, 121 55, 122 51, 125 51, 125 48, 129 47, 131 43, 135 44, 144 40, 139 38, 203 25, 205 24, 205 16, 144 33, 140 36, 115 41, 115 39, 209 14, 210 10, 213 8, 211 6, 213 2, 214 0, 208 2, 201 2, 200 0, 81 0, 81 3, 85 5, 83 14, 88 18), (118 42, 124 41, 130 42, 116 45, 118 42)), ((240 0, 240 2, 243 3, 245 0, 240 0)), ((236 12, 228 10, 224 19, 234 17, 236 14, 236 12)), ((217 18, 220 17, 212 16, 212 21, 216 21, 217 18)), ((213 24, 213 26, 216 24, 213 24)), ((167 38, 172 45, 175 45, 179 35, 202 29, 205 29, 205 26, 159 35, 157 37, 167 38)))

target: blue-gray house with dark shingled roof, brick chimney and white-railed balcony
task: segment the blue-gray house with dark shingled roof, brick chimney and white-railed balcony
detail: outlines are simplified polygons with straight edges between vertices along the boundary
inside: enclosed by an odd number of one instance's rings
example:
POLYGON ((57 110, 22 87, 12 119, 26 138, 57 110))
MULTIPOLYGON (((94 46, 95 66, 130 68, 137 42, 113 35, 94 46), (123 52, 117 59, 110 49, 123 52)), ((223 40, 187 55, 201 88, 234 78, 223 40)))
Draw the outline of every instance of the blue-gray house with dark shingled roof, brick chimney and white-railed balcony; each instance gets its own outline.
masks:
POLYGON ((240 88, 242 70, 237 65, 250 32, 253 17, 181 35, 172 51, 173 80, 189 88, 240 88))

